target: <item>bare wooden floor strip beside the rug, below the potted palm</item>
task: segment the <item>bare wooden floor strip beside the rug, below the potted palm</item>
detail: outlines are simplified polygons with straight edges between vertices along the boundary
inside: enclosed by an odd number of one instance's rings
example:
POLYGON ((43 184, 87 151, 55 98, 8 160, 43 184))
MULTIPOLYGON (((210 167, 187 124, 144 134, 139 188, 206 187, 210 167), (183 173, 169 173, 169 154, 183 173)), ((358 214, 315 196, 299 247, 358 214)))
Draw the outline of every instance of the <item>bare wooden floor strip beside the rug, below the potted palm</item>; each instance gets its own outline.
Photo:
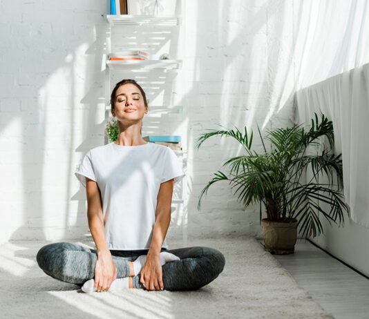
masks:
POLYGON ((273 256, 334 318, 369 318, 369 280, 364 276, 307 240, 297 240, 293 254, 273 256))

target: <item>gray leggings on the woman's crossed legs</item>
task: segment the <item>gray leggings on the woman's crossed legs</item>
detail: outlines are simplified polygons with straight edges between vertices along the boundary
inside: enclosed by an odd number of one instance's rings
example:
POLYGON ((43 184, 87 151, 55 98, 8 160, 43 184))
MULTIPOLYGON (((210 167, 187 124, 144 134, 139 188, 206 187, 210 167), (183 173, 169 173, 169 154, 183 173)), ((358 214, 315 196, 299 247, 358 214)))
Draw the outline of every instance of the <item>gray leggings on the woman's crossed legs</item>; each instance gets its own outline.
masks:
MULTIPOLYGON (((149 249, 140 251, 113 251, 117 278, 129 277, 129 261, 146 255, 149 249)), ((164 290, 196 290, 216 279, 225 267, 225 257, 220 251, 209 247, 186 247, 162 249, 180 258, 162 265, 164 290)), ((37 253, 39 267, 49 276, 82 286, 95 277, 95 249, 56 242, 41 247, 37 253)), ((140 274, 133 276, 133 288, 146 289, 140 282, 140 274)))

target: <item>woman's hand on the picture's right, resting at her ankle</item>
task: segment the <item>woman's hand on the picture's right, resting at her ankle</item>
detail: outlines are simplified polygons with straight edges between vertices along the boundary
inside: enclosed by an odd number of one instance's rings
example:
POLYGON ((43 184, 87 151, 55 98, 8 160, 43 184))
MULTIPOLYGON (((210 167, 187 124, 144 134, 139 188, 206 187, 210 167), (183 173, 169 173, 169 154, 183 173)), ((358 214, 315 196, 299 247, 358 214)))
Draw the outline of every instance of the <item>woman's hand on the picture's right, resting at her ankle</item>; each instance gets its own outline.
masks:
POLYGON ((146 290, 164 289, 159 255, 147 254, 146 262, 144 267, 142 267, 140 275, 140 282, 144 284, 146 290))

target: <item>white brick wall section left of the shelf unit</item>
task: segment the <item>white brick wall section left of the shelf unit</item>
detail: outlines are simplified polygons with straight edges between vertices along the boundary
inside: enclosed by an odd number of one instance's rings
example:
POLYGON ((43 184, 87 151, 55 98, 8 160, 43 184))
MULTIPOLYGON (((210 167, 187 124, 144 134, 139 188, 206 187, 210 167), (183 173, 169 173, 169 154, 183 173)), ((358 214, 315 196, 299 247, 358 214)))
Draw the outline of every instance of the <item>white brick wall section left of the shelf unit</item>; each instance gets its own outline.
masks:
POLYGON ((104 1, 1 1, 1 241, 86 233, 73 176, 103 140, 104 1))

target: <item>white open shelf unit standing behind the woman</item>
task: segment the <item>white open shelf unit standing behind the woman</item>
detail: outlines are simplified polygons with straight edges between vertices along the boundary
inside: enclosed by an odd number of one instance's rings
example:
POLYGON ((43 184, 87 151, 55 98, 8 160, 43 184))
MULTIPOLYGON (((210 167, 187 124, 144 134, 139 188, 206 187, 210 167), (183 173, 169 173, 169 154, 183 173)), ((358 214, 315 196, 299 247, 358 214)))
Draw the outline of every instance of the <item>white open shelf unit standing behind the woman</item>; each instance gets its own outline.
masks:
MULTIPOLYGON (((153 27, 158 26, 162 30, 163 28, 173 28, 181 25, 180 17, 158 17, 148 15, 107 15, 106 19, 110 27, 110 35, 113 28, 125 28, 125 27, 153 27)), ((111 39, 107 39, 107 52, 111 52, 111 39)), ((112 52, 113 53, 113 52, 112 52)), ((102 70, 105 70, 105 119, 111 119, 111 106, 110 106, 110 95, 111 95, 111 73, 122 72, 122 79, 124 78, 124 72, 128 70, 161 70, 162 72, 171 72, 171 70, 178 70, 182 68, 182 60, 180 59, 146 59, 146 60, 108 60, 107 54, 104 55, 102 61, 102 70)), ((140 72, 138 72, 140 76, 140 72)), ((135 78, 134 76, 131 78, 135 78)), ((140 83, 140 79, 136 79, 140 83)), ((149 99, 147 99, 149 103, 149 99)), ((178 115, 182 119, 187 116, 187 110, 182 105, 168 105, 158 106, 149 104, 149 113, 151 115, 178 115)), ((185 134, 185 132, 183 133, 185 134)), ((144 134, 143 134, 144 135, 144 134)), ((160 135, 160 132, 158 132, 160 135)), ((183 136, 183 135, 182 135, 183 136)), ((186 139, 187 141, 187 139, 186 139)), ((108 143, 108 138, 105 136, 105 144, 108 143)), ((182 165, 187 168, 187 145, 183 143, 182 139, 182 150, 173 150, 178 156, 178 160, 182 160, 182 165)), ((182 179, 182 191, 181 196, 173 194, 172 206, 176 206, 177 214, 181 213, 182 222, 182 240, 183 247, 187 247, 187 201, 185 200, 185 194, 187 193, 187 177, 182 179), (181 198, 178 198, 181 197, 181 198), (182 208, 182 209, 180 209, 182 208)))

